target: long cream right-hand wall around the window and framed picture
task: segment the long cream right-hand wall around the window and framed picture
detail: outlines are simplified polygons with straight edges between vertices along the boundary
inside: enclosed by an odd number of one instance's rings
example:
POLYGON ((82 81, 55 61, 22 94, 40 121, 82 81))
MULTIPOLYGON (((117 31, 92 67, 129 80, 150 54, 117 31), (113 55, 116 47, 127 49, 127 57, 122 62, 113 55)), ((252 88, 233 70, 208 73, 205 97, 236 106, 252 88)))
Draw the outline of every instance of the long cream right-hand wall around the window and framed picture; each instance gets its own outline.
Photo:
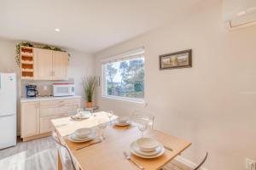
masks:
POLYGON ((256 160, 256 27, 226 31, 221 0, 205 1, 184 20, 96 54, 102 58, 145 47, 145 100, 148 106, 114 99, 97 102, 102 110, 128 114, 152 111, 155 127, 193 144, 183 156, 212 170, 245 169, 245 158, 256 160), (212 2, 212 3, 209 3, 212 2), (209 4, 207 4, 209 3, 209 4), (159 55, 193 49, 193 67, 159 70, 159 55))

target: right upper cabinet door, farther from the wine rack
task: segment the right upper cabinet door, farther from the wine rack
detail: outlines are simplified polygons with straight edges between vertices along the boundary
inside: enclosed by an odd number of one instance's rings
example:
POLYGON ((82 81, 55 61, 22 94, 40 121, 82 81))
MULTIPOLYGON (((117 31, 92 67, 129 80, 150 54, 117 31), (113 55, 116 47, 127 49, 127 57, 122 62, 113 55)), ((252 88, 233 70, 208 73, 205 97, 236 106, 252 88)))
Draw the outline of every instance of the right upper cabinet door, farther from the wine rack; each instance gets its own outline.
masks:
POLYGON ((53 51, 52 80, 67 80, 68 54, 67 52, 53 51))

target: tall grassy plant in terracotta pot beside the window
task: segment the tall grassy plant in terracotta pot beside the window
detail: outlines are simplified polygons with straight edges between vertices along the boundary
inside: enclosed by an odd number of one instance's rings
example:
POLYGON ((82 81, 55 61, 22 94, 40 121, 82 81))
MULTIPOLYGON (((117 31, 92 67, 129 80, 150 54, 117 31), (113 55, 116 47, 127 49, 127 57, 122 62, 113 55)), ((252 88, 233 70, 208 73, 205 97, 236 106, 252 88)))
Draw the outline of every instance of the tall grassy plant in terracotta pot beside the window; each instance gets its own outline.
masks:
POLYGON ((92 98, 96 88, 96 77, 84 77, 84 98, 86 100, 86 108, 92 107, 92 98))

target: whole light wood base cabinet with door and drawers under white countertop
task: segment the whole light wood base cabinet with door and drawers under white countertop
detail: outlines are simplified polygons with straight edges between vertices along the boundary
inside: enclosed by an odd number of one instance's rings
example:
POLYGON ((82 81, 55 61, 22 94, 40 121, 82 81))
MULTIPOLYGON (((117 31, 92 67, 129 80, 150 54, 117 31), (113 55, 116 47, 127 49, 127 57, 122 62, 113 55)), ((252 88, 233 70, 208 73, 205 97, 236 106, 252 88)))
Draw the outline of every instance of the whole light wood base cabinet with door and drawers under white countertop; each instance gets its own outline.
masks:
POLYGON ((21 138, 30 140, 50 135, 54 129, 51 120, 76 113, 80 105, 81 98, 21 102, 21 138))

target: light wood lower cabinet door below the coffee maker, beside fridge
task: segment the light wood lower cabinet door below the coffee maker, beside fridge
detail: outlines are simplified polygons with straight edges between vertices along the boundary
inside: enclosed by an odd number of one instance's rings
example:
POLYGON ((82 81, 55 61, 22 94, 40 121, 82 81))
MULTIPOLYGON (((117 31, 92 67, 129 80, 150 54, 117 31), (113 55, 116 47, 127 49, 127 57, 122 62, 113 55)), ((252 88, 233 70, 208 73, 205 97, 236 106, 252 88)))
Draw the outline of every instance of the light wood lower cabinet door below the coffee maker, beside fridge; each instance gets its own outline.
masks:
POLYGON ((22 103, 20 108, 20 137, 26 138, 39 134, 39 102, 22 103))

